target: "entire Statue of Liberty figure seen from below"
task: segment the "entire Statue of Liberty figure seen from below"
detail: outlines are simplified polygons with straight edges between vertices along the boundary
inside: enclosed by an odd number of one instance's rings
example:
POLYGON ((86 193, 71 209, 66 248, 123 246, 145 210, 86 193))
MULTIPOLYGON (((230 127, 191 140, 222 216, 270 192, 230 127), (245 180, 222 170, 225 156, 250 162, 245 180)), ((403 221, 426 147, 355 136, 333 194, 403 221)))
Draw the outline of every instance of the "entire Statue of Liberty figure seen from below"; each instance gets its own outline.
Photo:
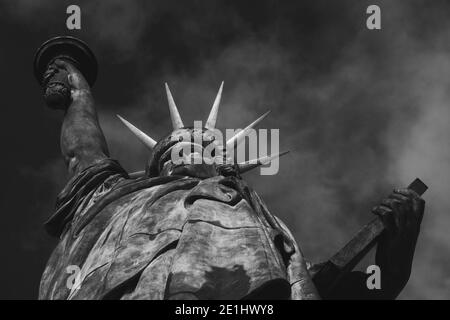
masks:
MULTIPOLYGON (((174 148, 193 159, 214 143, 222 86, 200 130, 183 123, 167 84, 167 136, 155 140, 120 118, 151 151, 145 171, 128 174, 109 157, 91 93, 97 62, 87 45, 50 39, 34 67, 47 105, 64 112, 60 144, 70 177, 45 223, 59 242, 40 299, 394 299, 407 283, 423 186, 395 189, 373 209, 373 224, 327 262, 311 264, 242 178, 278 155, 252 163, 172 159, 174 148), (375 243, 381 283, 371 288, 369 275, 353 267, 375 243)), ((261 119, 226 147, 244 141, 261 119)))

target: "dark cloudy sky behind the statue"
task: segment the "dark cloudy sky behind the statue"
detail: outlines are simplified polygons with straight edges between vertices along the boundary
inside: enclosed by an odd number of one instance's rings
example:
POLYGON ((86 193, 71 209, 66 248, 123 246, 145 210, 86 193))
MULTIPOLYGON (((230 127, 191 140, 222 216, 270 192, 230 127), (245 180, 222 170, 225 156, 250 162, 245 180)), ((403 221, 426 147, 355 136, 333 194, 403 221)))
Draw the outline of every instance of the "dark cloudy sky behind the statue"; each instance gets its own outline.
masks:
POLYGON ((50 37, 85 40, 100 70, 93 92, 112 157, 142 170, 144 147, 119 113, 163 137, 172 89, 184 123, 205 120, 225 81, 219 128, 268 109, 292 152, 275 176, 247 179, 321 261, 416 176, 429 185, 413 273, 401 298, 450 298, 450 3, 448 1, 0 1, 2 94, 0 298, 35 299, 56 244, 42 223, 64 185, 62 114, 33 77, 50 37), (82 29, 68 31, 78 4, 82 29), (365 27, 378 4, 382 30, 365 27))

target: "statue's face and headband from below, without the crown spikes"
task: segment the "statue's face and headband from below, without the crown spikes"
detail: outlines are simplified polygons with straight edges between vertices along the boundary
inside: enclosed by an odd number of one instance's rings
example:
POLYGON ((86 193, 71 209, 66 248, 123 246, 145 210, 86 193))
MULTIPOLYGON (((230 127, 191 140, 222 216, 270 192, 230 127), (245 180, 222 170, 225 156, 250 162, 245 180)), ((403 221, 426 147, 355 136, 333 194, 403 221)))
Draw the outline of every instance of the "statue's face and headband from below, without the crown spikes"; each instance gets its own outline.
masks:
MULTIPOLYGON (((216 175, 213 152, 204 152, 211 143, 216 143, 214 132, 205 128, 182 128, 161 139, 153 150, 148 174, 160 175, 216 175), (182 163, 180 163, 182 160, 182 163), (208 161, 209 160, 209 161, 208 161), (188 170, 189 172, 186 172, 188 170)), ((211 146, 208 149, 212 149, 211 146)))

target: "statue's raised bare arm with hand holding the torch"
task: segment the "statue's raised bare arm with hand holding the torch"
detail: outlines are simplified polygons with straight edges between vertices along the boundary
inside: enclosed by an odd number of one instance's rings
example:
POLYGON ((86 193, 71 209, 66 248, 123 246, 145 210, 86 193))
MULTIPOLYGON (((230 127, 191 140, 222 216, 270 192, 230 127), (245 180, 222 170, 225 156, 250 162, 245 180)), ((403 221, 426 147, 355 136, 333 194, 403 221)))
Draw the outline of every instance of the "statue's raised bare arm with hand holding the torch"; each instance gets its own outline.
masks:
POLYGON ((47 105, 64 111, 60 142, 70 175, 108 157, 91 93, 97 61, 89 47, 73 37, 52 38, 38 49, 34 68, 47 105))

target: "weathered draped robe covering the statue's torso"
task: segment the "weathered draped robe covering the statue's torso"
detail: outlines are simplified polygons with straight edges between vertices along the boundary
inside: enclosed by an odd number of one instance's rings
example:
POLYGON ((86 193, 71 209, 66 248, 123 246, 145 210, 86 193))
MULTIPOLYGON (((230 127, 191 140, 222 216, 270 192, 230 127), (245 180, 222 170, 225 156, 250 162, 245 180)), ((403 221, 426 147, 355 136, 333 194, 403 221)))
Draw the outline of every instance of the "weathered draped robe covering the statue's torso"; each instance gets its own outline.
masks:
POLYGON ((102 169, 73 179, 59 201, 65 218, 53 219, 68 224, 40 298, 316 297, 305 289, 311 281, 292 235, 242 180, 130 180, 119 169, 97 166, 102 169), (102 170, 111 171, 109 179, 85 188, 102 170), (80 267, 79 286, 72 288, 71 265, 80 267))

